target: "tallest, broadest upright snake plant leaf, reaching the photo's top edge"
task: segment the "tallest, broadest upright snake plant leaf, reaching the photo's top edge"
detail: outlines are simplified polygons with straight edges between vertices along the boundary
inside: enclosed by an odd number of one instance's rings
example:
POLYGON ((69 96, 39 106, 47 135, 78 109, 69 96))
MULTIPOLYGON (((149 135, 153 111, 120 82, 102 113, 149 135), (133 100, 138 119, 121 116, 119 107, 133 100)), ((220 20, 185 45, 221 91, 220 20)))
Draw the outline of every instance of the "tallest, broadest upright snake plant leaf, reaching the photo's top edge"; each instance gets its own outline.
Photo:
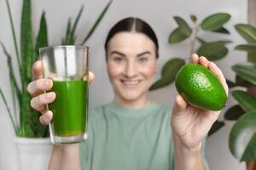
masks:
POLYGON ((32 136, 32 127, 29 127, 32 112, 30 107, 30 95, 26 91, 26 85, 32 81, 31 69, 34 62, 34 47, 32 43, 32 11, 31 1, 24 0, 21 14, 20 48, 21 48, 21 82, 22 102, 20 107, 20 131, 21 136, 32 136))

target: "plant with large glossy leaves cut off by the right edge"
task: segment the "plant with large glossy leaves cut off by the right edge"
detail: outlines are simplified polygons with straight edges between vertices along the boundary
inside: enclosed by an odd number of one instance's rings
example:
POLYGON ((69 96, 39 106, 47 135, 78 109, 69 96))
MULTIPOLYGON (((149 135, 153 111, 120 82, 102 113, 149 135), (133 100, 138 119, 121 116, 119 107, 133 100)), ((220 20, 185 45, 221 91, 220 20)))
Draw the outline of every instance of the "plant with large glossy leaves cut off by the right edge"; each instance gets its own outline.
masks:
POLYGON ((229 82, 232 96, 238 102, 228 110, 224 118, 236 121, 230 132, 230 151, 239 161, 247 162, 247 169, 256 169, 256 28, 237 24, 236 31, 247 43, 236 50, 247 52, 247 62, 232 66, 236 82, 229 82), (237 88, 241 87, 241 88, 237 88))

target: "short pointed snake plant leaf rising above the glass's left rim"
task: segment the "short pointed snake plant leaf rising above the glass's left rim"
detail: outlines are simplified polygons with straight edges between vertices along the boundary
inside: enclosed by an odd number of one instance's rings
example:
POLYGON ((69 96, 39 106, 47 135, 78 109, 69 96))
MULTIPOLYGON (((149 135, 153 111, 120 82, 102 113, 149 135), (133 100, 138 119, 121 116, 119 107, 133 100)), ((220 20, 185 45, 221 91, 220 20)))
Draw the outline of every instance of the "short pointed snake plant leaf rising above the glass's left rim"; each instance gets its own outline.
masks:
POLYGON ((43 12, 41 16, 41 21, 40 21, 40 28, 38 31, 38 38, 36 42, 36 49, 35 51, 37 52, 38 55, 38 49, 47 47, 48 46, 48 37, 47 37, 47 24, 45 20, 45 13, 43 12))

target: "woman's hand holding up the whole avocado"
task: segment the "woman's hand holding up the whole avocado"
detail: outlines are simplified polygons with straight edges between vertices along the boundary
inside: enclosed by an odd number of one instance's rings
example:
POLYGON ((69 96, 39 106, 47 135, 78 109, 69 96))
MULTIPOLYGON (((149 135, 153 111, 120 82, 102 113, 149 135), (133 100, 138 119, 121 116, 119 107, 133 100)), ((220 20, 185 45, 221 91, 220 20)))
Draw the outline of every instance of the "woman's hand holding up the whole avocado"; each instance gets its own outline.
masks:
MULTIPOLYGON (((193 63, 204 65, 218 77, 228 95, 228 85, 222 71, 205 57, 191 56, 193 63)), ((172 111, 172 136, 187 149, 201 148, 201 141, 207 135, 213 122, 218 119, 220 111, 207 111, 189 105, 182 96, 176 96, 172 111)))

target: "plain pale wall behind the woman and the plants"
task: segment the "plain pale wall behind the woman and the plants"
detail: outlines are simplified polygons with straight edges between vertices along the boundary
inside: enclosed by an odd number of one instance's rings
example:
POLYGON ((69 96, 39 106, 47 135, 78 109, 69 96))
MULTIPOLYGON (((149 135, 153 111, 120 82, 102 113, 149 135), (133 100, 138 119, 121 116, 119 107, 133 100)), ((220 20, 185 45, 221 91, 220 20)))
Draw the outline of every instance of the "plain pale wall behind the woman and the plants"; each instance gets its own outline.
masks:
MULTIPOLYGON (((20 31, 20 0, 9 0, 12 13, 14 14, 15 31, 19 35, 20 31)), ((79 11, 79 8, 84 4, 85 9, 81 17, 78 27, 79 42, 83 35, 93 25, 94 20, 102 11, 102 8, 108 3, 108 0, 102 1, 63 1, 63 0, 42 0, 32 2, 32 20, 34 31, 38 32, 38 23, 42 10, 46 11, 46 18, 49 27, 49 43, 50 45, 59 44, 61 37, 63 37, 68 16, 73 18, 79 11)), ((236 43, 242 42, 234 29, 236 23, 245 23, 247 21, 247 1, 241 0, 115 0, 109 8, 108 14, 102 21, 101 26, 96 30, 93 37, 87 43, 90 46, 90 70, 96 74, 95 82, 90 86, 90 107, 108 103, 113 99, 113 92, 108 82, 106 74, 106 65, 104 62, 103 43, 107 32, 113 24, 127 16, 137 16, 154 28, 160 41, 160 61, 159 70, 156 77, 160 76, 160 68, 167 59, 172 56, 181 56, 188 58, 189 49, 187 48, 189 42, 183 42, 178 45, 170 46, 167 43, 167 38, 170 32, 176 27, 173 15, 179 15, 189 21, 189 14, 196 14, 201 20, 207 14, 226 12, 232 15, 230 22, 226 27, 231 31, 232 40, 236 43), (104 84, 104 86, 102 86, 104 84)), ((0 41, 4 42, 10 54, 15 54, 11 30, 9 27, 8 11, 4 0, 0 1, 0 41)), ((191 23, 189 21, 189 23, 191 23)), ((218 39, 217 34, 201 33, 201 37, 208 37, 212 40, 218 39)), ((226 39, 225 36, 220 36, 226 39)), ((19 40, 18 36, 18 40, 19 40)), ((230 69, 230 65, 244 61, 245 54, 233 50, 235 44, 230 44, 230 52, 228 56, 217 62, 219 67, 224 71, 225 77, 234 79, 234 73, 230 69)), ((17 70, 17 69, 15 69, 17 70)), ((0 49, 0 86, 3 88, 7 96, 7 100, 11 102, 10 88, 9 88, 8 68, 6 65, 6 58, 3 50, 0 49)), ((152 100, 172 105, 173 97, 177 94, 173 85, 162 88, 150 94, 152 100)), ((234 101, 229 100, 229 104, 233 105, 234 101)), ((219 117, 223 119, 223 116, 219 117)), ((227 122, 227 126, 214 134, 207 141, 207 161, 211 169, 245 169, 244 165, 239 164, 230 154, 228 150, 228 134, 230 133, 231 122, 227 122)), ((9 117, 3 101, 0 99, 0 169, 16 170, 19 169, 17 165, 16 149, 14 144, 14 132, 9 121, 9 117)))

